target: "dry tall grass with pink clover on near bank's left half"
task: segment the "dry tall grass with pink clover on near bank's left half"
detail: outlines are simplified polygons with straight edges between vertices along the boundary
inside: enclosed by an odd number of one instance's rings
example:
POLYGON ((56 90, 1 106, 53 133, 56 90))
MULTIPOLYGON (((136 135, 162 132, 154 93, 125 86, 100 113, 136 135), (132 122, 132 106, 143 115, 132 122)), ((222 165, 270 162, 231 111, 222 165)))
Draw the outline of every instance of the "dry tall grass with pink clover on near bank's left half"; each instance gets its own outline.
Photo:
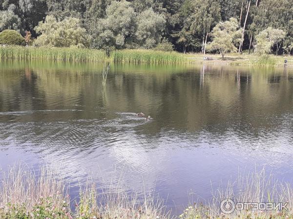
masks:
POLYGON ((14 166, 5 174, 0 188, 0 219, 167 219, 161 201, 151 195, 139 199, 119 185, 97 194, 88 181, 80 190, 75 210, 70 208, 60 169, 42 167, 40 174, 14 166))

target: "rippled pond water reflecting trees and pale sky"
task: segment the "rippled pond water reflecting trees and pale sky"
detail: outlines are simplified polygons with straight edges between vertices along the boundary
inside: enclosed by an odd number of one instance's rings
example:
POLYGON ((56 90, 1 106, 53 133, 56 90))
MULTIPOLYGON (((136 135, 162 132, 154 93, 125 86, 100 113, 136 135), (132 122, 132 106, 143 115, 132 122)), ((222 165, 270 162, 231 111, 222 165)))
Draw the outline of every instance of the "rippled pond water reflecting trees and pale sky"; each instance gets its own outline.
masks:
POLYGON ((293 69, 112 64, 105 86, 102 70, 0 63, 0 169, 63 161, 72 196, 122 175, 177 213, 239 171, 293 182, 293 69))

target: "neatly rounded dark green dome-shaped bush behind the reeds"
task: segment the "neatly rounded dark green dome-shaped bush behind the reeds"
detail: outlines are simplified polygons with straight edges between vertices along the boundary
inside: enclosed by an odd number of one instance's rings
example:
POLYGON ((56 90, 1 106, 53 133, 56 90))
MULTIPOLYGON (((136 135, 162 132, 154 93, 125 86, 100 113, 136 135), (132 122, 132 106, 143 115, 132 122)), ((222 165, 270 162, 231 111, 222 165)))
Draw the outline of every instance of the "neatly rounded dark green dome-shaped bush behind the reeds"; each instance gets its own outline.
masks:
POLYGON ((4 30, 0 33, 0 44, 25 46, 25 40, 15 30, 4 30))

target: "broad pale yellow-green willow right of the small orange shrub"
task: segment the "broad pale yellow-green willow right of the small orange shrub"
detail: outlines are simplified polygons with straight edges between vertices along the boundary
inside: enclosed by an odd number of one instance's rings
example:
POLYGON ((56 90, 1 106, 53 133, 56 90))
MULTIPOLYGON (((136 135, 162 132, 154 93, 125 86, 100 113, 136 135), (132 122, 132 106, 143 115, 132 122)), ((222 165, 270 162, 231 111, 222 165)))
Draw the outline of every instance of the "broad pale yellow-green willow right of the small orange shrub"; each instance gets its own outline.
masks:
POLYGON ((88 43, 86 30, 81 27, 78 18, 65 18, 63 21, 57 21, 53 16, 47 16, 44 22, 39 22, 35 30, 41 34, 35 40, 37 46, 69 47, 88 43))

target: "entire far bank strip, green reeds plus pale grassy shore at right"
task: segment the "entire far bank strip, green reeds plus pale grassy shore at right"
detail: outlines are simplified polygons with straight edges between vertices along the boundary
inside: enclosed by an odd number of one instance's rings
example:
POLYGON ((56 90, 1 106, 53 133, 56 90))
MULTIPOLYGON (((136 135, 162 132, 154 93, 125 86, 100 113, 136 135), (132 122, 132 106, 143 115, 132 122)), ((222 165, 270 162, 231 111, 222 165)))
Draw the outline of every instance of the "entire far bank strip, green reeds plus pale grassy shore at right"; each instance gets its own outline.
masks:
POLYGON ((114 62, 129 64, 213 64, 231 66, 254 67, 283 67, 284 60, 288 63, 286 68, 293 68, 292 55, 267 55, 267 59, 261 60, 261 56, 254 54, 230 53, 222 59, 220 54, 200 54, 179 52, 164 52, 146 49, 114 50, 109 56, 102 50, 80 49, 65 47, 22 47, 1 46, 0 61, 2 60, 34 60, 34 61, 65 61, 65 62, 114 62), (211 60, 204 60, 204 56, 211 60))

